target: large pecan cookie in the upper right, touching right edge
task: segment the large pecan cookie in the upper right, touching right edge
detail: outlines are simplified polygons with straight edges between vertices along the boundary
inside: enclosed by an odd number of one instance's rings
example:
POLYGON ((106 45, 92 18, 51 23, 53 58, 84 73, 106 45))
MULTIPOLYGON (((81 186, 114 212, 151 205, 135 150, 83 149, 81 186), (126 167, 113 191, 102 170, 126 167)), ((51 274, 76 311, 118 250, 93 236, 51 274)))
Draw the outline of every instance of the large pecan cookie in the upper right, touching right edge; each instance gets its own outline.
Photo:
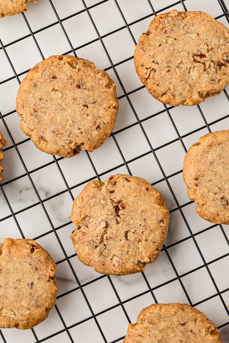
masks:
POLYGON ((229 83, 229 30, 203 12, 159 14, 138 40, 136 72, 164 104, 197 105, 229 83))

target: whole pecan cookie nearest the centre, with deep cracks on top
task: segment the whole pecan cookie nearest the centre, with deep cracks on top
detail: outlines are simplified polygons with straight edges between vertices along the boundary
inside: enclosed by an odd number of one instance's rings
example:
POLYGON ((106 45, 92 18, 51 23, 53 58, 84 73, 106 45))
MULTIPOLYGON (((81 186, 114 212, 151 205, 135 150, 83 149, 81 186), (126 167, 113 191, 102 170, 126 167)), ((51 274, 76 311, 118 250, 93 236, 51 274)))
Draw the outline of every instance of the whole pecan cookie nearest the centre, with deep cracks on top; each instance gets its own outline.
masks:
POLYGON ((90 181, 74 200, 71 240, 85 265, 102 274, 141 272, 160 254, 169 225, 164 198, 144 179, 90 181))

